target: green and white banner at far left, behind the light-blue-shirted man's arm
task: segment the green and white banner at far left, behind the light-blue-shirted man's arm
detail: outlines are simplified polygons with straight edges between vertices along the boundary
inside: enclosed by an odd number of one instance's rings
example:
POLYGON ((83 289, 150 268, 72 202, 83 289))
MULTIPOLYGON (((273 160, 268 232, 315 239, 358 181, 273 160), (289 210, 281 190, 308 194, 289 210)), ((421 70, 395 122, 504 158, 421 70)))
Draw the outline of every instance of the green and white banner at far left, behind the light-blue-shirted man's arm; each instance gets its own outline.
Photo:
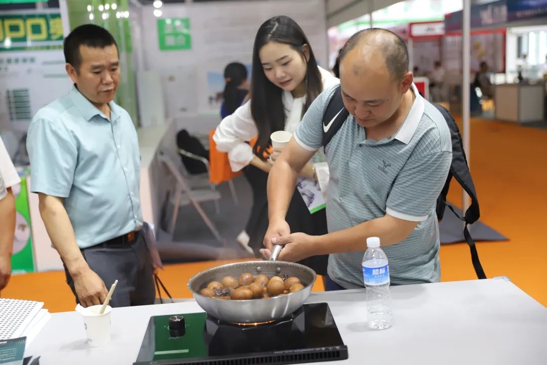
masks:
POLYGON ((28 213, 28 195, 26 177, 21 177, 21 191, 15 198, 15 236, 13 238, 13 255, 11 256, 11 272, 13 274, 32 273, 31 216, 28 213))

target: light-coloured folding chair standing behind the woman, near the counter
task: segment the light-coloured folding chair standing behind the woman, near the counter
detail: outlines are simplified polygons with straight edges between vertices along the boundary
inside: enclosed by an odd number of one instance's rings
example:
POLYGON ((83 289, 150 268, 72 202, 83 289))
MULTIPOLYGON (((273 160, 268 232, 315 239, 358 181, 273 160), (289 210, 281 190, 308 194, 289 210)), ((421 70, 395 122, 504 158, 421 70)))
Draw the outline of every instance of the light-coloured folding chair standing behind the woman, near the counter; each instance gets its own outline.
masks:
POLYGON ((211 222, 211 219, 201 208, 200 203, 206 201, 213 201, 217 207, 218 212, 218 200, 220 199, 220 193, 211 186, 199 187, 191 186, 187 181, 188 172, 184 168, 181 159, 174 153, 171 153, 168 149, 161 149, 159 152, 159 159, 165 164, 167 170, 175 179, 174 186, 174 200, 173 200, 173 213, 171 217, 171 224, 168 227, 168 231, 173 237, 174 228, 177 223, 178 212, 181 206, 193 205, 197 212, 200 214, 203 222, 207 224, 207 227, 211 230, 211 233, 221 244, 225 244, 224 239, 220 236, 217 228, 211 222))

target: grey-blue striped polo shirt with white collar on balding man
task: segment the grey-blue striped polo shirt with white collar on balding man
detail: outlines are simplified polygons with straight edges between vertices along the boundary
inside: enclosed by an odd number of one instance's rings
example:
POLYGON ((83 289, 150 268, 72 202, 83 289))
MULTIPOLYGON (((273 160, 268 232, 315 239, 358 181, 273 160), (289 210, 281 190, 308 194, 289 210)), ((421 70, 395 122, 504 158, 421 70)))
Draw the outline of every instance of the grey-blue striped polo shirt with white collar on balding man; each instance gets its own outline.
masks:
MULTIPOLYGON (((312 103, 295 132, 301 147, 322 147, 323 114, 337 86, 312 103)), ((435 204, 452 161, 450 130, 443 115, 418 94, 399 130, 380 141, 366 139, 352 115, 327 145, 329 232, 387 214, 419 222, 405 240, 382 247, 395 285, 440 280, 439 225, 435 204)), ((336 251, 335 249, 333 251, 336 251)), ((363 287, 364 251, 329 256, 328 274, 345 288, 363 287)))

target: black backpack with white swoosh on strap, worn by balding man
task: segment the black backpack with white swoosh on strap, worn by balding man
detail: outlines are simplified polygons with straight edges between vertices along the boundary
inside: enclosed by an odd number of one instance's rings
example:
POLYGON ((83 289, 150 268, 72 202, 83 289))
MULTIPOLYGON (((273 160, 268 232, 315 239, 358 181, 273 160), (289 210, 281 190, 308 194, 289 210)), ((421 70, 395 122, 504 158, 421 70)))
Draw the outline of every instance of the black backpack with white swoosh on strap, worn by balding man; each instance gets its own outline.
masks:
MULTIPOLYGON (((469 250, 471 251, 471 260, 473 262, 473 267, 475 268, 475 273, 479 279, 486 279, 484 270, 482 270, 482 265, 479 260, 479 254, 475 247, 475 241, 469 234, 467 226, 469 224, 475 223, 480 217, 479 210, 479 201, 477 200, 477 195, 475 191, 475 185, 473 184, 473 179, 471 178, 471 172, 469 171, 469 166, 467 165, 467 159, 465 158, 465 152, 463 150, 462 136, 459 134, 458 125, 452 117, 452 115, 447 111, 447 109, 438 104, 433 104, 435 108, 439 110, 443 117, 446 120, 446 124, 449 126, 450 135, 452 137, 452 164, 450 165, 450 171, 448 177, 446 178, 445 185, 439 198, 437 198, 437 218, 439 221, 443 219, 444 212, 446 207, 449 207, 450 210, 465 222, 465 227, 463 228, 463 235, 465 240, 469 245, 469 250), (462 188, 469 194, 471 198, 471 205, 465 211, 465 215, 460 217, 454 208, 446 202, 446 194, 450 188, 450 181, 452 177, 457 180, 457 182, 462 186, 462 188)), ((340 129, 344 121, 350 113, 344 107, 344 102, 342 101, 342 93, 340 86, 338 86, 331 96, 327 110, 323 114, 323 148, 327 147, 327 144, 334 137, 336 132, 340 129), (329 126, 330 124, 330 126, 329 126), (327 132, 325 132, 325 128, 327 132)))

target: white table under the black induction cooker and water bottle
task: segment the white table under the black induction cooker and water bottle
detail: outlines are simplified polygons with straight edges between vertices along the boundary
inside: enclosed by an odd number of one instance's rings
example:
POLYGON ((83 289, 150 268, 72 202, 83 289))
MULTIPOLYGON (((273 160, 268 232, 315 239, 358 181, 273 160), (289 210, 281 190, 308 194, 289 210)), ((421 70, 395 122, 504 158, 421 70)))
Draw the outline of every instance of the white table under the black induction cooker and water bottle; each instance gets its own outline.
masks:
MULTIPOLYGON (((547 363, 547 309, 504 279, 392 288, 394 325, 366 327, 364 291, 312 293, 328 302, 349 359, 329 364, 547 363)), ((41 365, 132 364, 150 316, 202 311, 193 301, 112 310, 112 341, 86 343, 76 312, 54 314, 25 356, 41 365)))

